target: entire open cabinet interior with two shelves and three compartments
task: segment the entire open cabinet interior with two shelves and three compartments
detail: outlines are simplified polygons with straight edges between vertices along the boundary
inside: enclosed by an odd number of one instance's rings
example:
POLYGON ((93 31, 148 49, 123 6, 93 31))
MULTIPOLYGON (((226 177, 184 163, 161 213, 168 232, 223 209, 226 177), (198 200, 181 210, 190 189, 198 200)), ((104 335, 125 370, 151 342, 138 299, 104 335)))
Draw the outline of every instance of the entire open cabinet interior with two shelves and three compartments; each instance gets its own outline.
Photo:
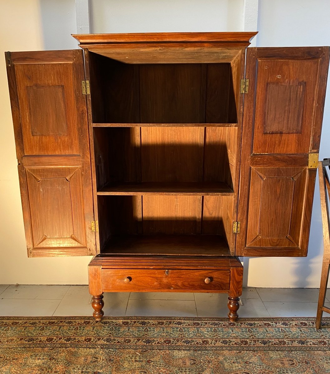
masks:
POLYGON ((101 253, 234 254, 235 61, 89 53, 101 253))

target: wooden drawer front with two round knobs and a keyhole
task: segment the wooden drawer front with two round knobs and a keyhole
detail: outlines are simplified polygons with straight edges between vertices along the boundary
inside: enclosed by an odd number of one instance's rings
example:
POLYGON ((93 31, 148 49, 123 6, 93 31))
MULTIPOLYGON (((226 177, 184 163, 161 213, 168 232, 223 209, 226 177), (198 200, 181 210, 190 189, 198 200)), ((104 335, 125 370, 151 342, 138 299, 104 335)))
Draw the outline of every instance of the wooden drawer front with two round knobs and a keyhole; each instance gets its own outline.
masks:
POLYGON ((230 270, 103 269, 103 291, 226 292, 230 270))

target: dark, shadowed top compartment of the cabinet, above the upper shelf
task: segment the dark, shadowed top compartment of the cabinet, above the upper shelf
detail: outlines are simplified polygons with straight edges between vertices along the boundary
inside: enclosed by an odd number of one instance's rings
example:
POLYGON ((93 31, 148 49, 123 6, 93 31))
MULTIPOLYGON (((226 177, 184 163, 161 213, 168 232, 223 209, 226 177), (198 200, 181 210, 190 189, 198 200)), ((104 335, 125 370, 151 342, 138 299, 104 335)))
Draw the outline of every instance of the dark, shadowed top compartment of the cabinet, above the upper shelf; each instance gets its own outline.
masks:
POLYGON ((90 53, 94 123, 237 123, 238 60, 125 64, 90 53))

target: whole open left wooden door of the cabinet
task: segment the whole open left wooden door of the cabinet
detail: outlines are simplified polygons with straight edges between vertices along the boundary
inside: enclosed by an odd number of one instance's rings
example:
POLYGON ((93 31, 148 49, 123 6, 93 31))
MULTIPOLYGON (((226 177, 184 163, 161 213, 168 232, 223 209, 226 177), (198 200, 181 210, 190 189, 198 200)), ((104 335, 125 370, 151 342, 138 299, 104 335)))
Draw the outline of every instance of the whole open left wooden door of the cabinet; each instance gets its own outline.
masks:
POLYGON ((82 52, 6 53, 29 257, 95 254, 82 52))

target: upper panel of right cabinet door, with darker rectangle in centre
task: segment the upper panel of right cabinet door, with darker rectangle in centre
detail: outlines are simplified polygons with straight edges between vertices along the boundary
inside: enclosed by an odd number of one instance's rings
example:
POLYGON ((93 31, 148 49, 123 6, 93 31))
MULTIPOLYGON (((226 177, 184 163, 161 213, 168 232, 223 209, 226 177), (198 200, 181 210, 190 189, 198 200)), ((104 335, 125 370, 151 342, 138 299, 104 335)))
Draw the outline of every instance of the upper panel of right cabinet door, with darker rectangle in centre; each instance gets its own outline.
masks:
POLYGON ((308 153, 320 59, 258 60, 253 153, 308 153))

